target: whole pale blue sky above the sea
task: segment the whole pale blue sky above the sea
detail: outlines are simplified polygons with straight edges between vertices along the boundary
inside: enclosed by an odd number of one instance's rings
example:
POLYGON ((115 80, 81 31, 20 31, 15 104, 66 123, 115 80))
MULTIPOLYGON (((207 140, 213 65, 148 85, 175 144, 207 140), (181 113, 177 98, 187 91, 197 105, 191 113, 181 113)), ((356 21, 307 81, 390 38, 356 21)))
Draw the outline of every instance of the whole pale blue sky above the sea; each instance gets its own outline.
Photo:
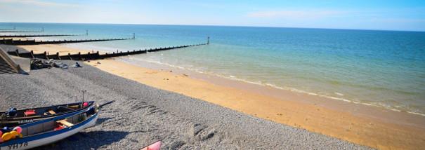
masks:
POLYGON ((425 0, 0 0, 0 22, 425 31, 425 0))

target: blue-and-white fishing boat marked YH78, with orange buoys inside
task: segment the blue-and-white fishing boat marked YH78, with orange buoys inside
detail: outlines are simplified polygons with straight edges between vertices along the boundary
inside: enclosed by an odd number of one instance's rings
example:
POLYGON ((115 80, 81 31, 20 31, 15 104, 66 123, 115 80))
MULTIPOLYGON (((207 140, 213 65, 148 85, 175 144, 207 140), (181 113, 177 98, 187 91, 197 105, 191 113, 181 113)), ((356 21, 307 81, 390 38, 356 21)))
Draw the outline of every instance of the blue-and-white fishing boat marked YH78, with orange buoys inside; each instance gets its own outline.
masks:
POLYGON ((84 111, 74 111, 21 125, 19 130, 3 134, 4 142, 0 143, 0 150, 32 149, 70 137, 95 125, 98 110, 98 107, 91 106, 84 108, 84 111))

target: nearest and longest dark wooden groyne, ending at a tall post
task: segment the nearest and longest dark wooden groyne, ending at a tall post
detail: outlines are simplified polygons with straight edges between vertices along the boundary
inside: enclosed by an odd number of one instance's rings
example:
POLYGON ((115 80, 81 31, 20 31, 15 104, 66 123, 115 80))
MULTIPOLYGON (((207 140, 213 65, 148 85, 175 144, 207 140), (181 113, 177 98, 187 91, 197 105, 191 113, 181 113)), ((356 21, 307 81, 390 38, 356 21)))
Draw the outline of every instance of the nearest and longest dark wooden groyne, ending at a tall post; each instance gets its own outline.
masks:
POLYGON ((99 51, 96 53, 77 53, 77 54, 70 54, 68 55, 59 55, 59 53, 55 54, 48 54, 47 52, 34 54, 34 52, 31 50, 29 53, 20 53, 19 50, 15 51, 8 51, 9 55, 15 55, 18 57, 26 57, 26 58, 40 58, 40 59, 54 59, 54 60, 98 60, 98 59, 104 59, 108 57, 119 57, 124 55, 136 55, 136 54, 143 54, 143 53, 150 53, 150 52, 157 52, 161 50, 172 50, 176 48, 187 48, 191 46, 202 46, 207 45, 208 43, 200 43, 200 44, 193 44, 193 45, 185 45, 185 46, 171 46, 171 47, 163 47, 163 48, 149 48, 145 50, 133 50, 133 51, 126 51, 126 52, 113 52, 113 53, 105 53, 100 54, 99 51))

